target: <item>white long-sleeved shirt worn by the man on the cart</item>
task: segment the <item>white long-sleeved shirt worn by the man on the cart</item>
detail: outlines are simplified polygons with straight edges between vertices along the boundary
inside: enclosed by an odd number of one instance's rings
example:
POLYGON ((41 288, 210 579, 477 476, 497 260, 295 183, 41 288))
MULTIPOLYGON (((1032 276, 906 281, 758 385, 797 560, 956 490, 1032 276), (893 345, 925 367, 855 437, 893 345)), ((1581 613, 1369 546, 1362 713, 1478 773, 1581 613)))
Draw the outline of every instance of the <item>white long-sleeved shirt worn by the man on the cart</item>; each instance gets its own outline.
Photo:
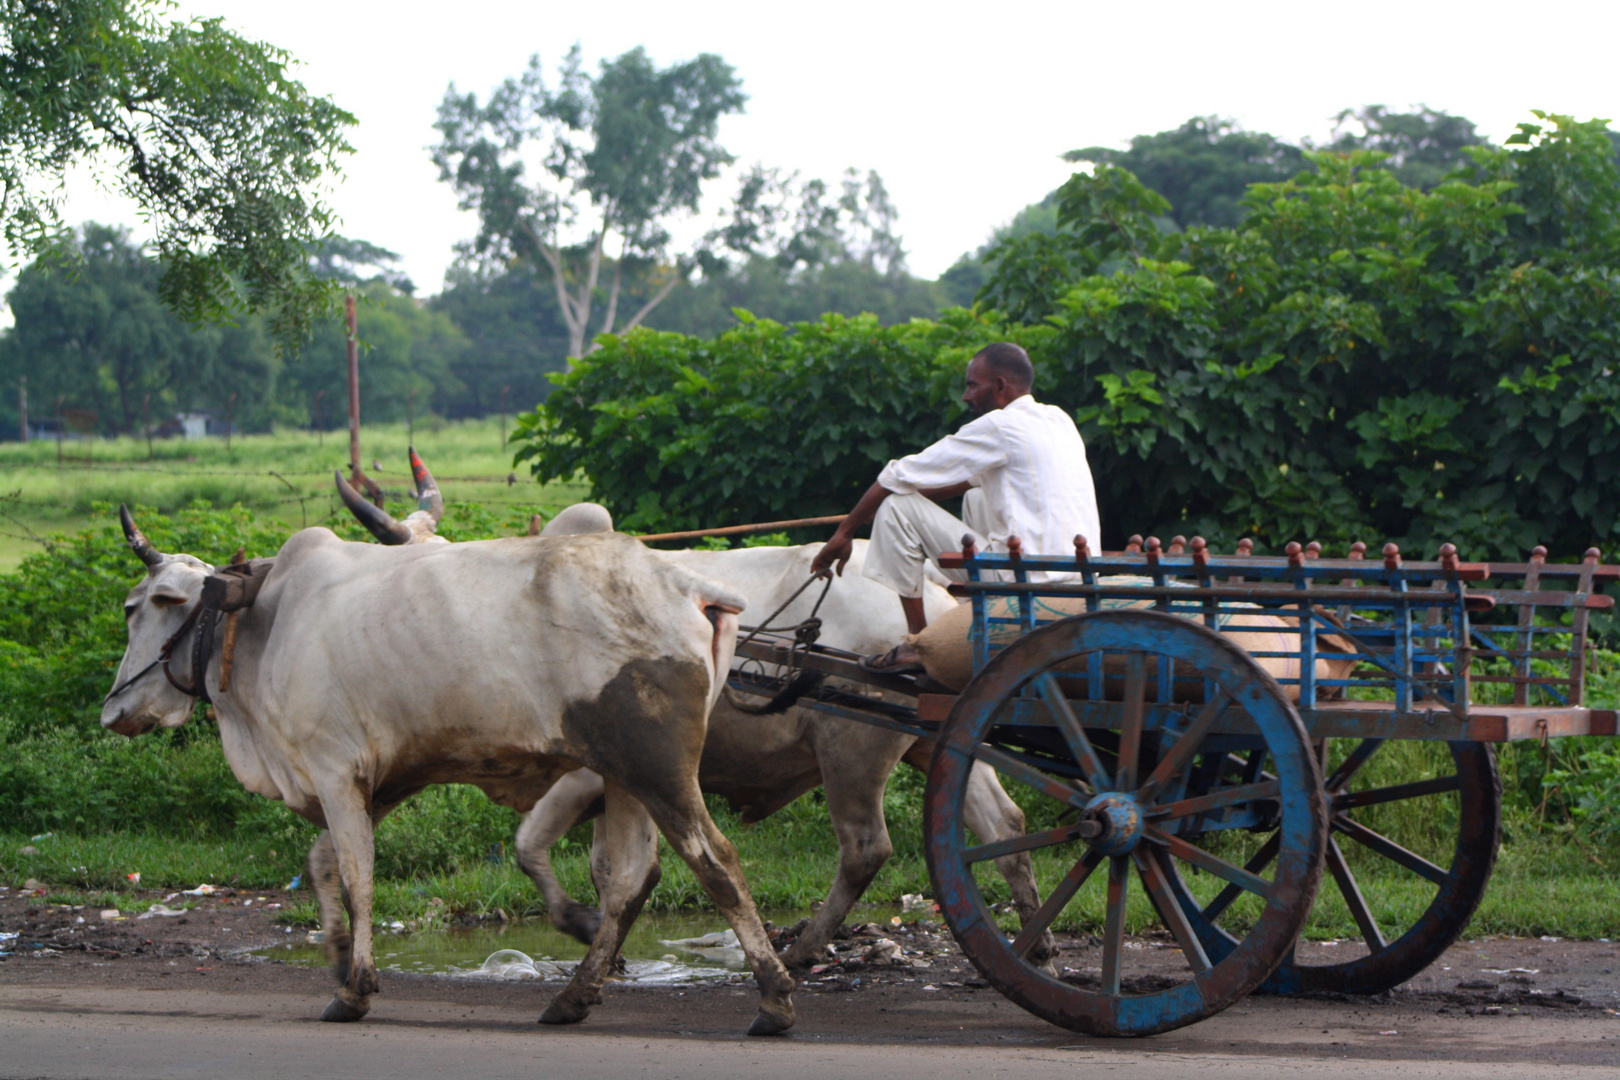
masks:
POLYGON ((896 494, 962 483, 983 489, 993 551, 1017 536, 1029 555, 1072 555, 1077 534, 1102 551, 1085 442, 1055 405, 1025 393, 878 474, 896 494))

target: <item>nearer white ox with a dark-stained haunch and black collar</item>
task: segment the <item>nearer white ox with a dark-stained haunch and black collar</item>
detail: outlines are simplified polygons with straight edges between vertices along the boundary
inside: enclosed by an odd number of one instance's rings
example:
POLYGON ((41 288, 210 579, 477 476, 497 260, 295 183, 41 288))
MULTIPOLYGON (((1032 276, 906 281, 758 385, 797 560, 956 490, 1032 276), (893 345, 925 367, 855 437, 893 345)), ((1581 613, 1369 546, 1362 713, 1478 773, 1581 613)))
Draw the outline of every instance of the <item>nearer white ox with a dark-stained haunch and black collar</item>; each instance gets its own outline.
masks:
POLYGON ((332 942, 340 988, 322 1018, 358 1020, 377 989, 377 821, 429 784, 475 784, 528 810, 583 766, 604 777, 614 873, 601 933, 541 1020, 582 1020, 601 1001, 656 881, 663 831, 748 955, 761 991, 750 1031, 792 1025, 792 978, 697 784, 744 607, 732 589, 617 534, 384 551, 309 528, 282 546, 240 612, 220 691, 217 649, 191 670, 212 568, 154 551, 128 512, 123 525, 147 573, 125 601, 130 644, 102 725, 123 735, 178 727, 206 688, 237 779, 327 829, 311 871, 318 889, 326 879, 322 905, 339 894, 347 902, 352 941, 332 942))

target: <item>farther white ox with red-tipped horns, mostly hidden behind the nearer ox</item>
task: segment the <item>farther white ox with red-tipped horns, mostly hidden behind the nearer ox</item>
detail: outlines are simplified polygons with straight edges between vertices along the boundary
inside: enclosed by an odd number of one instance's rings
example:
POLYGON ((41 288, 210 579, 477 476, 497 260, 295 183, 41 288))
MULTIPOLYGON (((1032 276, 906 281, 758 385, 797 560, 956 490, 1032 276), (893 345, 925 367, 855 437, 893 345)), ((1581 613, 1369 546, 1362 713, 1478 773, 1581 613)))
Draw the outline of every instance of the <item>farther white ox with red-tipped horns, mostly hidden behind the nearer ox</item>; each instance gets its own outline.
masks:
MULTIPOLYGON (((347 484, 339 484, 339 492, 355 517, 386 544, 424 542, 431 534, 431 518, 442 510, 442 504, 434 502, 437 489, 433 476, 415 455, 411 468, 423 510, 405 521, 394 521, 347 484)), ((608 529, 612 529, 612 517, 604 507, 577 504, 552 518, 541 536, 578 536, 608 529)), ((820 547, 804 544, 671 551, 658 555, 726 585, 747 601, 755 619, 763 620, 807 581, 810 562, 820 547)), ((894 593, 860 573, 865 551, 867 541, 855 541, 847 572, 834 580, 816 610, 821 619, 820 643, 860 654, 881 653, 906 633, 894 593)), ((795 625, 807 619, 816 607, 820 593, 820 585, 800 593, 778 615, 776 625, 795 625)), ((941 586, 930 583, 923 591, 923 604, 933 620, 956 602, 941 586)), ((889 774, 902 759, 927 771, 932 751, 932 743, 910 735, 855 724, 816 709, 794 708, 760 716, 742 712, 726 699, 714 706, 698 767, 698 784, 706 793, 721 795, 744 821, 753 823, 815 787, 826 792, 828 818, 838 836, 838 871, 826 900, 782 954, 789 967, 808 967, 825 959, 826 944, 894 850, 883 814, 883 790, 889 774)), ((603 793, 603 779, 593 771, 570 772, 523 818, 515 840, 518 865, 546 897, 551 921, 583 942, 596 938, 601 913, 567 894, 551 865, 551 848, 577 823, 601 813, 603 793)), ((969 827, 985 844, 1024 834, 1024 811, 1001 789, 988 766, 975 764, 964 810, 969 827)), ((598 847, 591 863, 601 892, 609 873, 609 852, 598 847)), ((996 868, 1008 881, 1019 916, 1034 916, 1040 908, 1040 895, 1029 855, 1004 855, 996 860, 996 868)), ((1042 936, 1035 952, 1040 959, 1050 955, 1050 933, 1042 936)))

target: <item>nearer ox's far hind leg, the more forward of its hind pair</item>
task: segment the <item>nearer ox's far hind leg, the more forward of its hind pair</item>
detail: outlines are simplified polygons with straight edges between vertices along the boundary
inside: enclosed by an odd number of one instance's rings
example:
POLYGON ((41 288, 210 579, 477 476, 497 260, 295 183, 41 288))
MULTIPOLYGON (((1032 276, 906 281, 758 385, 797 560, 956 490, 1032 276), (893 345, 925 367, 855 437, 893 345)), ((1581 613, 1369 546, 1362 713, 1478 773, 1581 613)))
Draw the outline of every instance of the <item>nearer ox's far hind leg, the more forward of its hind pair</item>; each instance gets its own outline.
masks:
POLYGON ((596 823, 593 870, 603 902, 601 928, 573 978, 551 999, 541 1023, 578 1023, 603 1001, 603 981, 614 968, 624 936, 658 884, 658 827, 624 789, 604 785, 604 813, 596 823))

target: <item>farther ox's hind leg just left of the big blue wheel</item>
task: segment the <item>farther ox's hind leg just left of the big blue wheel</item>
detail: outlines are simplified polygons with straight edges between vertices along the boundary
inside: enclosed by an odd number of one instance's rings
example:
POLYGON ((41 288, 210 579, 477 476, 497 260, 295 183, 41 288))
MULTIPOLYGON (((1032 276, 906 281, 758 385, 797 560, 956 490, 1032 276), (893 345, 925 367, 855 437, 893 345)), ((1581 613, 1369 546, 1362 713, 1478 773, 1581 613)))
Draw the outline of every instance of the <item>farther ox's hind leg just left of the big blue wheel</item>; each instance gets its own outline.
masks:
POLYGON ((883 870, 883 863, 894 853, 889 827, 883 818, 883 789, 899 761, 899 750, 901 746, 894 746, 888 755, 865 753, 860 761, 839 756, 838 761, 823 764, 826 813, 833 819, 833 832, 838 834, 838 874, 821 910, 812 916, 799 941, 782 954, 782 963, 787 967, 804 968, 826 960, 826 942, 844 925, 849 908, 855 907, 867 886, 883 870))

